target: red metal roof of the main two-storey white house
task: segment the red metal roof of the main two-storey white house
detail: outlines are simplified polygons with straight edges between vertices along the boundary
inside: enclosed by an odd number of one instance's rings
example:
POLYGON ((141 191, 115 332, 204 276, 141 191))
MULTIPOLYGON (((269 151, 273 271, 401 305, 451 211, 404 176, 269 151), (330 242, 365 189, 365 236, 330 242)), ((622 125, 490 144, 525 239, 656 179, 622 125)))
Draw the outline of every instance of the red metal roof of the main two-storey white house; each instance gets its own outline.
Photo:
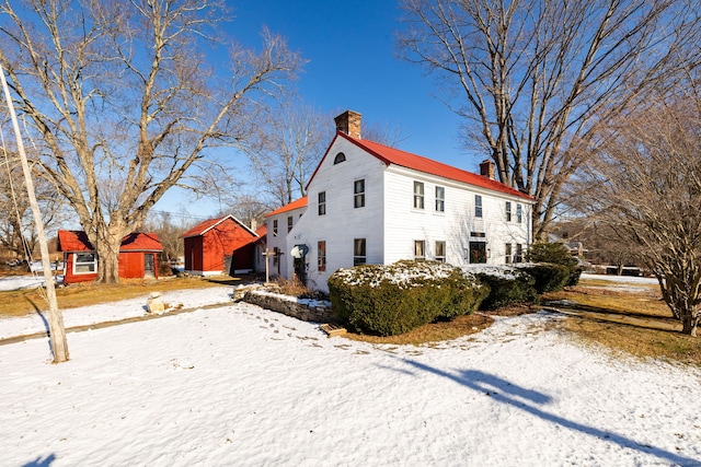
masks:
MULTIPOLYGON (((462 168, 453 167, 448 164, 444 164, 438 161, 434 161, 432 159, 423 157, 421 155, 412 154, 410 152, 401 151, 395 148, 390 148, 377 142, 372 142, 369 140, 355 139, 349 137, 348 135, 338 131, 336 132, 336 138, 343 137, 346 140, 350 141, 358 148, 365 150, 366 152, 372 154, 380 161, 382 161, 386 165, 394 164, 401 167, 411 168, 417 172, 423 172, 425 174, 437 175, 439 177, 448 178, 456 182, 461 182, 464 184, 469 184, 472 186, 478 186, 481 188, 491 189, 494 191, 503 192, 505 195, 517 196, 519 198, 524 198, 532 201, 533 198, 525 192, 521 192, 515 188, 512 188, 508 185, 505 185, 501 182, 493 180, 489 177, 484 177, 482 175, 473 174, 472 172, 463 171, 462 168)), ((334 139, 335 141, 335 139, 334 139)), ((332 144, 333 145, 333 142, 332 144)), ((331 149, 329 147, 329 150, 331 149)), ((326 154, 324 154, 324 159, 329 155, 329 150, 326 150, 326 154)), ((323 160, 322 160, 323 162, 323 160)), ((319 164, 321 166, 321 163, 319 164)), ((319 170, 319 166, 317 170, 319 170)), ((317 175, 317 171, 312 174, 309 184, 317 175)), ((309 186, 307 184, 307 186, 309 186)))

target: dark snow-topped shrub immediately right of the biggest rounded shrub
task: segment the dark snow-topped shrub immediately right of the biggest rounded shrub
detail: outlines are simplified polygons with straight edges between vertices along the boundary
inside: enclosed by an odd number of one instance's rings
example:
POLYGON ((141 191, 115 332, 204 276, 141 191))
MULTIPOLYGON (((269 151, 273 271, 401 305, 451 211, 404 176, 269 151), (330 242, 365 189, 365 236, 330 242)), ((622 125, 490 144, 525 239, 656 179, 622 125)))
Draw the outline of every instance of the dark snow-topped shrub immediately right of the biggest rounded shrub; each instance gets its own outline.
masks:
POLYGON ((536 279, 515 268, 482 268, 478 279, 490 287, 490 294, 482 301, 480 310, 495 310, 514 303, 532 302, 538 297, 536 279))

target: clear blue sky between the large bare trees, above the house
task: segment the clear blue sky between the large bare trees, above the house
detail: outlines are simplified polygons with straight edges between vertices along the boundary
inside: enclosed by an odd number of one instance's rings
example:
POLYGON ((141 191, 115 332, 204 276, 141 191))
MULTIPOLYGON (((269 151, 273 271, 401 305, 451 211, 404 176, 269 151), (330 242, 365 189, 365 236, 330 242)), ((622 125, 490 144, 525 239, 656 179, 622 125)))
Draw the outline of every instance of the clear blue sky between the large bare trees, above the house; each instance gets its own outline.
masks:
MULTIPOLYGON (((260 46, 267 26, 309 60, 296 83, 306 103, 331 115, 359 112, 364 125, 400 130, 400 149, 478 171, 483 156, 460 149, 460 119, 437 97, 434 78, 398 57, 397 1, 241 0, 230 7, 234 17, 225 27, 238 42, 260 46)), ((177 212, 182 205, 168 196, 156 209, 177 212)), ((197 215, 219 210, 205 206, 198 203, 197 215)))

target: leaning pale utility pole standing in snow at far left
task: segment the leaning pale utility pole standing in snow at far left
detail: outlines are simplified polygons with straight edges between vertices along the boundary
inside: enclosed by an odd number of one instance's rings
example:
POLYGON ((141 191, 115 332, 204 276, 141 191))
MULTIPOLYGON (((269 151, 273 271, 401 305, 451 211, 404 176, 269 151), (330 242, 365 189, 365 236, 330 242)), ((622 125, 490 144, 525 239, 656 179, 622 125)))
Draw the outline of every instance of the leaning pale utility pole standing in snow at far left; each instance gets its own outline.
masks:
POLYGON ((44 232, 44 223, 42 222, 39 205, 36 202, 36 194, 34 192, 34 182, 32 182, 30 163, 27 162, 26 153, 24 152, 24 143, 22 142, 22 135, 20 133, 20 125, 18 124, 18 117, 14 113, 14 106, 12 105, 12 96, 10 95, 10 89, 8 87, 8 82, 4 78, 4 70, 1 66, 0 80, 2 81, 2 90, 4 91, 10 118, 12 119, 12 128, 14 129, 14 137, 18 142, 18 152, 20 153, 20 160, 22 161, 22 172, 24 173, 24 182, 26 184, 26 191, 30 198, 32 213, 34 214, 34 225, 36 226, 39 249, 42 253, 42 267, 44 269, 44 281, 46 282, 46 295, 48 297, 49 305, 48 332, 51 340, 51 351, 54 352, 54 363, 61 363, 69 359, 64 317, 61 312, 58 310, 58 302, 56 301, 56 289, 54 287, 51 262, 48 256, 48 244, 46 243, 46 233, 44 232))

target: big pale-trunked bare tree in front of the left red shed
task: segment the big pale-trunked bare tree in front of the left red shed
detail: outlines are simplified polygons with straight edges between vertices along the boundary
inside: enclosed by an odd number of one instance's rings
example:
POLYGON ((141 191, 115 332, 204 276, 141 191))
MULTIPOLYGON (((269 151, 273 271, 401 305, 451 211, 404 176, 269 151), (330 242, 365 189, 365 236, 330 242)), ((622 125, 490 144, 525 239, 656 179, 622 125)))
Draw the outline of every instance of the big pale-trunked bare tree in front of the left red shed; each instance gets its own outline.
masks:
POLYGON ((99 281, 118 282, 122 238, 218 147, 245 140, 300 66, 267 32, 260 52, 208 56, 222 17, 217 0, 0 3, 0 63, 45 173, 97 252, 99 281))

